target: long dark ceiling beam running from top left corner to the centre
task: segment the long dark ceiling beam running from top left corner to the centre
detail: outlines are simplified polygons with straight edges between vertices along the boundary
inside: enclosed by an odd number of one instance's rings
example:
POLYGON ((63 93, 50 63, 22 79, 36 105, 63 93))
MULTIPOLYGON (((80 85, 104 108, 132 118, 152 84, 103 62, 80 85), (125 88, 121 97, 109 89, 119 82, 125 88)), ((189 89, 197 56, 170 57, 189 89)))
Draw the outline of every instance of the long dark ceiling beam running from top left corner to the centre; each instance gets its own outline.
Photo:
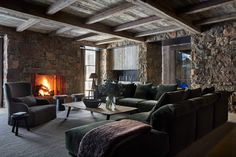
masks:
POLYGON ((136 42, 144 42, 144 38, 135 37, 134 33, 128 31, 114 32, 113 28, 105 24, 85 24, 86 19, 78 17, 65 12, 58 12, 57 14, 47 15, 47 5, 36 5, 26 1, 19 0, 1 0, 0 10, 19 15, 22 17, 37 18, 40 21, 50 22, 61 26, 70 26, 73 28, 84 28, 88 31, 112 35, 117 38, 124 38, 136 42))

